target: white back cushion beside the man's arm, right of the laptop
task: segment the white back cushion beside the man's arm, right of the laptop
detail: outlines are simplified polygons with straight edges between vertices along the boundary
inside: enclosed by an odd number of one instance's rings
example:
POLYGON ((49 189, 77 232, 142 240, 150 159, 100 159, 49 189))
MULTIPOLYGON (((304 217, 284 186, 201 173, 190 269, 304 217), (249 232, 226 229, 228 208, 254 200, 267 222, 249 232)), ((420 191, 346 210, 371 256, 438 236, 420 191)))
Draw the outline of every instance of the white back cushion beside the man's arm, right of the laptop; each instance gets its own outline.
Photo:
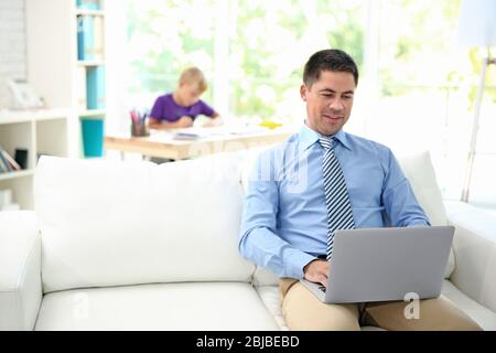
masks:
MULTIPOLYGON (((398 157, 405 176, 409 180, 417 201, 431 221, 431 225, 448 225, 441 190, 428 151, 416 156, 398 157)), ((450 278, 455 267, 453 248, 450 249, 444 278, 450 278)))

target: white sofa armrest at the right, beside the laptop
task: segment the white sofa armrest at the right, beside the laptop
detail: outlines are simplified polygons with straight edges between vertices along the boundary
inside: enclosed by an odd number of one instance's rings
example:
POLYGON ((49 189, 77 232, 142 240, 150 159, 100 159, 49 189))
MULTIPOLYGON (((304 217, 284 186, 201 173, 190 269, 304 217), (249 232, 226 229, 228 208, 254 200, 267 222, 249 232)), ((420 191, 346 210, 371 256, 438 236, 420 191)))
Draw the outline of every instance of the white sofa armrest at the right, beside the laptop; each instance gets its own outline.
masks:
POLYGON ((451 281, 465 295, 496 312, 496 216, 462 202, 445 202, 455 269, 451 281))

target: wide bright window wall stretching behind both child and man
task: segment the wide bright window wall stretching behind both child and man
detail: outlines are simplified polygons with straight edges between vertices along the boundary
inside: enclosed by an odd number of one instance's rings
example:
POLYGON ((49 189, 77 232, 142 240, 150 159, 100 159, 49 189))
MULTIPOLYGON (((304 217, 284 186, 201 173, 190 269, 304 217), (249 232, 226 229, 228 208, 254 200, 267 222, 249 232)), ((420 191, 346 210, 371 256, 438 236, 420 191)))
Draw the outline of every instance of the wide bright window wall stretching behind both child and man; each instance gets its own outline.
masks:
MULTIPOLYGON (((151 107, 159 94, 174 89, 183 68, 196 65, 209 82, 203 98, 226 118, 301 122, 304 62, 316 50, 341 47, 360 71, 347 130, 397 153, 430 150, 443 195, 460 199, 482 61, 477 50, 456 46, 460 0, 116 3, 108 2, 115 7, 109 20, 123 12, 120 33, 127 34, 118 49, 125 55, 115 56, 128 73, 122 84, 115 84, 120 105, 151 107)), ((493 204, 495 82, 493 66, 471 193, 471 201, 493 204)))

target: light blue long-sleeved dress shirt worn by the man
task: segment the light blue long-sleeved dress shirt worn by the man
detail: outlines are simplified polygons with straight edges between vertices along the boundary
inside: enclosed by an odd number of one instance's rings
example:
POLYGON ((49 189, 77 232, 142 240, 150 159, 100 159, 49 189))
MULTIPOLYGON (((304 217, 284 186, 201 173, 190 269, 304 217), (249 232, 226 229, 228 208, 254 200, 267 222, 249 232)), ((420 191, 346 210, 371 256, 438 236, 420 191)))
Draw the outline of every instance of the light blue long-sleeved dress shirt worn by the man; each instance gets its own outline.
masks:
MULTIPOLYGON (((343 130, 334 136, 357 228, 430 225, 387 147, 343 130)), ((304 125, 259 156, 248 182, 239 250, 279 277, 301 279, 303 267, 326 252, 320 137, 304 125)))

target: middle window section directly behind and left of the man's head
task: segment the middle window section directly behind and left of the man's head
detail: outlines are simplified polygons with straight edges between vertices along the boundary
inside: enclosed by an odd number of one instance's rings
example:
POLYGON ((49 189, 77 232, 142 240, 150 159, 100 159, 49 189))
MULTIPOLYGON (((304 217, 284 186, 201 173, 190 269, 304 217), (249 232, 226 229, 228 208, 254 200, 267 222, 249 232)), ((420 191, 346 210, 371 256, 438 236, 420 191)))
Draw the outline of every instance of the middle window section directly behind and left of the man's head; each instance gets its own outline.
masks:
POLYGON ((234 116, 301 121, 303 64, 341 47, 363 63, 364 1, 240 0, 231 9, 229 107, 234 116))

